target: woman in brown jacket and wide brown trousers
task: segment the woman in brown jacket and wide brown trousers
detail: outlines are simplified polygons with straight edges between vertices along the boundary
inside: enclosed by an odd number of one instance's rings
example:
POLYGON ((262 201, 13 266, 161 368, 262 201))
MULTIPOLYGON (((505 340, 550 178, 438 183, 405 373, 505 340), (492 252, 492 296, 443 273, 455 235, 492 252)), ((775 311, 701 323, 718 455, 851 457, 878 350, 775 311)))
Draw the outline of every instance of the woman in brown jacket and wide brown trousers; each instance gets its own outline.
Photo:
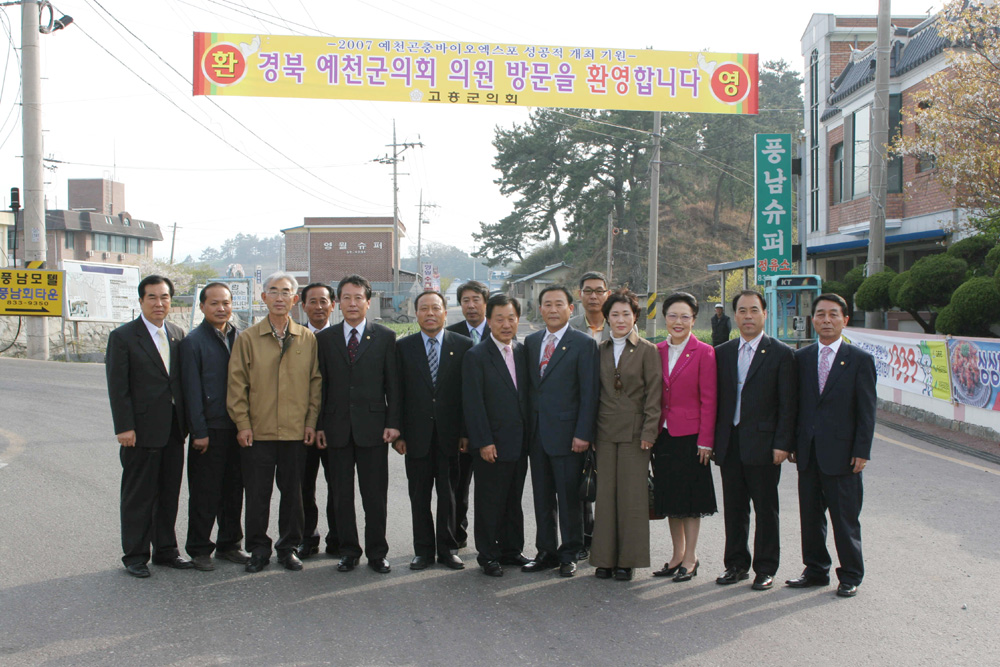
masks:
POLYGON ((600 345, 597 502, 590 563, 600 579, 628 581, 649 567, 649 454, 660 421, 663 370, 656 346, 635 330, 636 295, 615 290, 604 302, 611 338, 600 345))

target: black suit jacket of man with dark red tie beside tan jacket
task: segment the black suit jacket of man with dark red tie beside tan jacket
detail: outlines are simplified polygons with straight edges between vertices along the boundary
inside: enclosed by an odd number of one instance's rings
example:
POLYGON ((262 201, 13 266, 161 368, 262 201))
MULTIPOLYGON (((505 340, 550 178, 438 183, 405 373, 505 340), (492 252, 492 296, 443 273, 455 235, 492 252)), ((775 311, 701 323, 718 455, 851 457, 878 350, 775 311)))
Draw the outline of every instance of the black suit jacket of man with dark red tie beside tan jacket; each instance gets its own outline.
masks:
POLYGON ((352 433, 358 447, 375 447, 383 444, 385 429, 400 428, 396 334, 381 324, 366 322, 352 364, 345 325, 339 322, 316 335, 323 375, 319 423, 329 447, 347 447, 352 433))

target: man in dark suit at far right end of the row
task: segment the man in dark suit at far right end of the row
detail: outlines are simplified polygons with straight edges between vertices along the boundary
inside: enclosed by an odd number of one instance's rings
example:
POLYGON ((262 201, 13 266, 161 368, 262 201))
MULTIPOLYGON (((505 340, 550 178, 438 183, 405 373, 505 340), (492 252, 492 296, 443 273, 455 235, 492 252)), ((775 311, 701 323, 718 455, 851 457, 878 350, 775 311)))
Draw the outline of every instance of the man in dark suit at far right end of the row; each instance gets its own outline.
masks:
POLYGON ((875 435, 875 360, 841 339, 847 303, 837 294, 813 301, 819 342, 795 353, 799 419, 792 460, 799 469, 799 521, 805 570, 792 588, 830 583, 826 512, 837 546, 837 595, 854 597, 864 578, 861 555, 862 471, 875 435))

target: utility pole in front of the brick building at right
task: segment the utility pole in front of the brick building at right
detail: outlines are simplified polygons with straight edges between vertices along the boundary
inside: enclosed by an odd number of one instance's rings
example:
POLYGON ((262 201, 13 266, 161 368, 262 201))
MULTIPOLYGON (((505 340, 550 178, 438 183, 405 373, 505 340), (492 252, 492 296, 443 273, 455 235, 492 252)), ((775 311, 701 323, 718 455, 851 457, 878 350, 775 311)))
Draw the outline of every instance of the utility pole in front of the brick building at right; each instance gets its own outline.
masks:
MULTIPOLYGON (((889 143, 889 28, 890 0, 878 2, 878 29, 875 41, 875 105, 872 108, 871 159, 869 161, 868 271, 881 273, 885 266, 886 144, 889 143)), ((882 328, 882 313, 865 313, 865 326, 882 328)))

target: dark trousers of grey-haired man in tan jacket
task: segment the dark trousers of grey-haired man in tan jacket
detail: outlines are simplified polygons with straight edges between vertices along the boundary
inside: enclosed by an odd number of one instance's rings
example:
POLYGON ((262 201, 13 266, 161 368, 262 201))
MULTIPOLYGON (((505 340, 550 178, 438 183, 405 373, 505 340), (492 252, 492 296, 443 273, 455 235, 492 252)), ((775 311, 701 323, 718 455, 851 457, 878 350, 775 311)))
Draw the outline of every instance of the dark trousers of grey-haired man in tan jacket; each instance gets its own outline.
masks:
POLYGON ((278 556, 291 552, 302 542, 302 468, 306 445, 301 440, 254 440, 241 447, 243 485, 246 487, 246 549, 255 556, 270 558, 271 538, 267 526, 271 517, 271 492, 278 483, 278 556))

